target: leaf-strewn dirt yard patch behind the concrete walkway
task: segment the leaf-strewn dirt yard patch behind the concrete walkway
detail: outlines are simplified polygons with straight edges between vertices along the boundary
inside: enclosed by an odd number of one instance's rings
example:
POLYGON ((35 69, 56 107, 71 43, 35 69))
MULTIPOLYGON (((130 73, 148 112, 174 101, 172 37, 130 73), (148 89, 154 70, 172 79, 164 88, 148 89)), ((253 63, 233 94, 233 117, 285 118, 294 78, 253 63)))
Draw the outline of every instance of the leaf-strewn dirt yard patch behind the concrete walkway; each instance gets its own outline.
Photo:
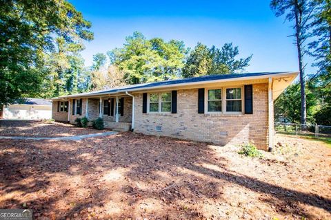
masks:
POLYGON ((100 133, 95 129, 77 128, 72 124, 42 120, 0 120, 0 136, 65 137, 100 133))

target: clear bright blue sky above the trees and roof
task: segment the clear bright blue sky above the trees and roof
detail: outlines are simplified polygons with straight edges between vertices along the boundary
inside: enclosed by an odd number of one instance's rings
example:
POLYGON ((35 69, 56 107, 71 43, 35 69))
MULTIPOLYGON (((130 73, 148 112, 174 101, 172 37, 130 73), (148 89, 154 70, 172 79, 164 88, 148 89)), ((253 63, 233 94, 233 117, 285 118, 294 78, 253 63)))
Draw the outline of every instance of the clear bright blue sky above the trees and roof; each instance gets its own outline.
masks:
MULTIPOLYGON (((92 22, 94 40, 82 52, 85 65, 93 54, 123 46, 135 31, 148 39, 161 37, 183 41, 193 48, 198 42, 222 47, 239 46, 239 57, 252 56, 247 72, 297 71, 297 50, 291 23, 275 17, 268 0, 219 1, 82 1, 69 0, 92 22)), ((308 63, 306 73, 314 72, 308 63)))

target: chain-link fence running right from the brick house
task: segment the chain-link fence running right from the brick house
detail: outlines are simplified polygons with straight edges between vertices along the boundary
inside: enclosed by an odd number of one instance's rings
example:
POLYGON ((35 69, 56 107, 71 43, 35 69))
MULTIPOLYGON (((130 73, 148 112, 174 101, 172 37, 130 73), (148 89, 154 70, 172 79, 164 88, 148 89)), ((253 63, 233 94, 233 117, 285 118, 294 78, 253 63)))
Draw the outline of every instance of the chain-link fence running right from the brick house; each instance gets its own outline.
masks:
POLYGON ((331 137, 331 126, 319 124, 274 123, 276 133, 306 135, 312 137, 331 137))

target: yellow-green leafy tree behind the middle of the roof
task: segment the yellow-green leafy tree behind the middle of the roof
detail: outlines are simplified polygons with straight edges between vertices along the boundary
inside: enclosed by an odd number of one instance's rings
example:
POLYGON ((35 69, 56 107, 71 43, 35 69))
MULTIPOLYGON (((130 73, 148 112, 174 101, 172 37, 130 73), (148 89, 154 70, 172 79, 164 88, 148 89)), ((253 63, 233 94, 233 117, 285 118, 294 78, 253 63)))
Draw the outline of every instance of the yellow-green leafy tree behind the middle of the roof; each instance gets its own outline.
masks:
POLYGON ((134 32, 123 47, 108 52, 110 63, 123 72, 128 84, 179 78, 184 65, 185 45, 181 41, 146 39, 134 32))

